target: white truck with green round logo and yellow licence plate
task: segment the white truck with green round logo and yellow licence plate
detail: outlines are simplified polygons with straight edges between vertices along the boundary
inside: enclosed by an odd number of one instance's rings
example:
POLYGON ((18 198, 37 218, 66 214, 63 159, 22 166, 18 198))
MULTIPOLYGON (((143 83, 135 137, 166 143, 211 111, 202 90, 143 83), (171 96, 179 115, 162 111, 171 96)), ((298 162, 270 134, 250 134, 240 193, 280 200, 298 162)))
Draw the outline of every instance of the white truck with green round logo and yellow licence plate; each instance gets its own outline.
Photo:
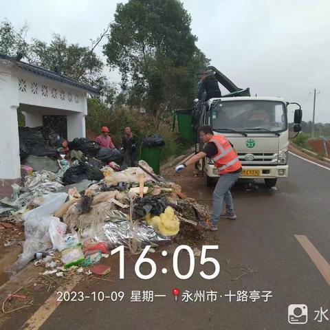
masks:
MULTIPOLYGON (((265 179, 266 186, 275 186, 278 178, 288 175, 287 106, 297 103, 288 103, 282 98, 252 97, 249 89, 239 89, 217 69, 211 68, 216 72, 219 82, 225 83, 223 85, 227 85, 226 88, 230 87, 228 90, 231 93, 200 102, 197 126, 210 125, 215 135, 222 134, 228 138, 243 166, 242 179, 265 179)), ((299 109, 294 113, 295 132, 301 130, 302 119, 302 110, 297 105, 299 109)), ((197 137, 196 151, 202 148, 203 143, 197 137)), ((218 169, 208 158, 199 162, 198 166, 206 176, 206 184, 210 186, 218 177, 218 169)))

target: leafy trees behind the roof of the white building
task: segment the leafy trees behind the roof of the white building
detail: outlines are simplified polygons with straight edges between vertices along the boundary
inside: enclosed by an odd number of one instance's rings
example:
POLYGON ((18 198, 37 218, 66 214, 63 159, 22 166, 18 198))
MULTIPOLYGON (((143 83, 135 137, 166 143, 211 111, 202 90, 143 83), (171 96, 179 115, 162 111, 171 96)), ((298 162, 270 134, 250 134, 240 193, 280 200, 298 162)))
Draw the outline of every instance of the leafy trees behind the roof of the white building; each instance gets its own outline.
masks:
POLYGON ((108 30, 104 30, 96 41, 91 41, 91 47, 69 44, 65 36, 59 34, 54 34, 49 44, 39 39, 28 43, 25 41, 27 25, 17 30, 10 22, 3 21, 0 23, 0 52, 10 56, 21 52, 30 64, 99 88, 102 100, 111 104, 115 100, 116 89, 104 75, 104 63, 94 52, 108 30))

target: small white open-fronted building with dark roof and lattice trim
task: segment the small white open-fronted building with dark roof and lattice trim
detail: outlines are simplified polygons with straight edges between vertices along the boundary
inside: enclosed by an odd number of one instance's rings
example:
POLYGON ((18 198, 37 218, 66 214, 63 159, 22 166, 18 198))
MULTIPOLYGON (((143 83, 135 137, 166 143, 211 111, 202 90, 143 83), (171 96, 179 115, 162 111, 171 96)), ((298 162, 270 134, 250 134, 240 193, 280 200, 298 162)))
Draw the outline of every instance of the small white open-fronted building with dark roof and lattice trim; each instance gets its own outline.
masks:
POLYGON ((43 125, 45 115, 65 115, 67 139, 85 137, 87 93, 98 89, 56 72, 0 54, 0 198, 21 184, 17 111, 25 126, 43 125))

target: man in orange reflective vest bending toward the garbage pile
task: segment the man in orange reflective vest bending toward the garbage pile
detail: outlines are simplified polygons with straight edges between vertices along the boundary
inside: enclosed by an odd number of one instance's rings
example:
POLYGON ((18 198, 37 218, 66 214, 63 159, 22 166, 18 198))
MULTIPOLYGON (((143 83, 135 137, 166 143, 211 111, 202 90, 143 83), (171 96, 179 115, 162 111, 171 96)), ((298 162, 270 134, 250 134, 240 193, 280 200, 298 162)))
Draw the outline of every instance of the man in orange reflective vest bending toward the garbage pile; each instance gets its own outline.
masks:
POLYGON ((213 191, 213 210, 211 223, 199 222, 203 228, 216 231, 219 218, 234 220, 234 204, 230 189, 234 186, 241 174, 242 165, 237 157, 232 144, 223 135, 213 135, 212 127, 208 125, 199 126, 197 132, 201 140, 206 143, 203 151, 197 153, 184 164, 175 168, 178 173, 186 166, 195 164, 199 159, 209 157, 214 162, 214 166, 219 168, 219 180, 213 191), (225 201, 225 212, 223 212, 223 201, 225 201))

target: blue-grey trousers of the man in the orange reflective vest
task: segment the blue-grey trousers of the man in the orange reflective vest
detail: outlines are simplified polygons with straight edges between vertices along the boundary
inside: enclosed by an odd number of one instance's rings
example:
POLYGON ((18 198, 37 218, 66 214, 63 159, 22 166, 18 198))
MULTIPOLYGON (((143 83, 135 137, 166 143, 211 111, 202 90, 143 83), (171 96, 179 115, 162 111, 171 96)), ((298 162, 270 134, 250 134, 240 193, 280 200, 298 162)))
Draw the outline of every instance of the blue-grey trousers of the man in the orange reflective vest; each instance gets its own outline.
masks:
POLYGON ((223 214, 223 201, 225 201, 225 210, 228 214, 234 214, 234 204, 232 203, 232 193, 230 189, 234 186, 239 175, 241 173, 226 173, 220 175, 213 191, 213 211, 212 211, 212 223, 217 225, 219 217, 223 214))

